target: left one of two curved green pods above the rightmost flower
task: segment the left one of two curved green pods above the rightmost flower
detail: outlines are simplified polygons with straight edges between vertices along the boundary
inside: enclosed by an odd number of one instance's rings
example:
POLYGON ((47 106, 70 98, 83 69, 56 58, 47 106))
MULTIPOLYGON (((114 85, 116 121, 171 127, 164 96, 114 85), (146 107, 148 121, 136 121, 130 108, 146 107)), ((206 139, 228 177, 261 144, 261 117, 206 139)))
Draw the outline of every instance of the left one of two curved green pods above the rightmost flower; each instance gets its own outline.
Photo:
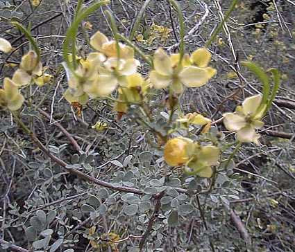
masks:
POLYGON ((253 62, 242 62, 243 66, 246 66, 246 68, 254 73, 258 80, 263 84, 262 89, 262 104, 267 104, 267 100, 269 98, 269 91, 270 91, 270 84, 269 84, 269 77, 264 72, 264 70, 258 66, 257 64, 253 62))

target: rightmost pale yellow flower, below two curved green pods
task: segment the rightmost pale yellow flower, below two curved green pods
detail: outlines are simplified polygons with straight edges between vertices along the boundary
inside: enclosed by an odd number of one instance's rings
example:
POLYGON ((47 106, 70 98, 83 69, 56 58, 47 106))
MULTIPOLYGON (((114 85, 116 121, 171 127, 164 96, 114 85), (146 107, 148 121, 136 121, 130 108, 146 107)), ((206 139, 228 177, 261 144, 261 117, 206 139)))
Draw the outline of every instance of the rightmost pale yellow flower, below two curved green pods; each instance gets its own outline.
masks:
POLYGON ((259 134, 255 129, 263 127, 261 121, 265 106, 261 107, 262 96, 251 96, 244 100, 242 107, 238 106, 235 113, 224 114, 224 126, 231 132, 236 132, 236 138, 242 143, 258 143, 259 134))

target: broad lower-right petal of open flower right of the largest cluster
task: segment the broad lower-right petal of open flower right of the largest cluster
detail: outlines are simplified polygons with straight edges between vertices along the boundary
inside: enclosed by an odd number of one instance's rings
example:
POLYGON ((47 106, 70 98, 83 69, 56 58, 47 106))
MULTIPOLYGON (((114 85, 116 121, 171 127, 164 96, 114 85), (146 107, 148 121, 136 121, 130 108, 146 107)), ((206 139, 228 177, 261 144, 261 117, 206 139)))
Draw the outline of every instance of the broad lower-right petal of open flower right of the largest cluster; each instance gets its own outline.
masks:
POLYGON ((210 76, 205 69, 187 66, 179 73, 180 81, 187 87, 201 87, 208 82, 210 76))

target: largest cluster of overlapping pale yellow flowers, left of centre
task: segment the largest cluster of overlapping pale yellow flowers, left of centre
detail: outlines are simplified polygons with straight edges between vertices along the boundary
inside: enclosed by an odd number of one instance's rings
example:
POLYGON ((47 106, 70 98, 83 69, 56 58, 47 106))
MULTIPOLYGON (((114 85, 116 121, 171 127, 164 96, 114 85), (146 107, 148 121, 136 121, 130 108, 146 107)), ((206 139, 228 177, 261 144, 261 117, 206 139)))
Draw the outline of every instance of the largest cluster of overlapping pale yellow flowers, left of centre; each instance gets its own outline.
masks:
POLYGON ((88 98, 109 96, 117 87, 128 89, 143 83, 133 48, 117 44, 99 31, 90 38, 90 45, 95 51, 79 60, 74 72, 64 63, 69 84, 64 94, 67 101, 85 104, 88 98))

